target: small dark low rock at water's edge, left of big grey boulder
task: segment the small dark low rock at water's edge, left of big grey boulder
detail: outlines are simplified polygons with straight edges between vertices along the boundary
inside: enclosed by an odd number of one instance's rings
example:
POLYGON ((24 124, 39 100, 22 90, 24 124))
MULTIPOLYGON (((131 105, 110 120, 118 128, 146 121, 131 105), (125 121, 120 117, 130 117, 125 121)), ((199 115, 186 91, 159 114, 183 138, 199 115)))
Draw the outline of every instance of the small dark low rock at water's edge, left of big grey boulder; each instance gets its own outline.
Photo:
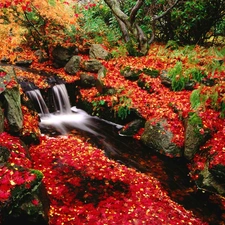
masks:
POLYGON ((120 131, 119 134, 122 136, 133 136, 135 135, 140 128, 144 127, 144 120, 136 119, 126 124, 120 131))

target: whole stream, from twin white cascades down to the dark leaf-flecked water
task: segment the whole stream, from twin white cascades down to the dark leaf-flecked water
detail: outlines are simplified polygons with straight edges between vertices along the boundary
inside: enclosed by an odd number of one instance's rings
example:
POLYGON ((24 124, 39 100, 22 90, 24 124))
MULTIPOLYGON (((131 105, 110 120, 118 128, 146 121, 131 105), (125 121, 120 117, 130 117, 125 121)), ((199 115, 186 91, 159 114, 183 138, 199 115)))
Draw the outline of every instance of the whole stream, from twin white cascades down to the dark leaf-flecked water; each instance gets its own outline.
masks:
POLYGON ((66 135, 74 130, 81 132, 89 142, 103 149, 109 158, 157 178, 172 200, 192 210, 209 224, 221 224, 224 212, 217 204, 217 196, 196 188, 188 177, 186 161, 160 155, 133 138, 120 136, 118 133, 122 125, 90 116, 75 106, 71 107, 64 84, 53 87, 55 113, 46 110, 44 99, 37 90, 27 94, 38 102, 40 128, 43 132, 52 135, 66 135))

